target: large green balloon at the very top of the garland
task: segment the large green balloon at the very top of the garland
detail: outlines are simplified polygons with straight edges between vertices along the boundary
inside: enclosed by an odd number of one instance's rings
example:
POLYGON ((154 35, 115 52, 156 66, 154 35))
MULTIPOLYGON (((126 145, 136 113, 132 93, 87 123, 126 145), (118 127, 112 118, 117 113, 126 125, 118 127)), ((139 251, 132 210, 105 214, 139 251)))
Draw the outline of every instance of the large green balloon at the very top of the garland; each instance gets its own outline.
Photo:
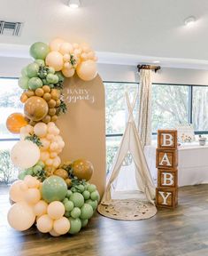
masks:
POLYGON ((49 45, 44 44, 42 42, 36 42, 32 44, 29 53, 34 59, 45 60, 46 56, 49 54, 50 48, 49 45))

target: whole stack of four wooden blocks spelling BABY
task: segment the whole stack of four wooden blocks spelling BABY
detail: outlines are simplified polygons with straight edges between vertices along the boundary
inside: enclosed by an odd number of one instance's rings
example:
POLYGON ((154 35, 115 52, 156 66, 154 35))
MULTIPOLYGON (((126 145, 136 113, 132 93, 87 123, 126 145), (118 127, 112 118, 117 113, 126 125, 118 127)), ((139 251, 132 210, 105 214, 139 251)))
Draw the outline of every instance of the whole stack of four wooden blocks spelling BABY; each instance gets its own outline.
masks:
POLYGON ((158 168, 158 188, 156 205, 175 208, 178 204, 178 150, 177 131, 158 130, 156 167, 158 168))

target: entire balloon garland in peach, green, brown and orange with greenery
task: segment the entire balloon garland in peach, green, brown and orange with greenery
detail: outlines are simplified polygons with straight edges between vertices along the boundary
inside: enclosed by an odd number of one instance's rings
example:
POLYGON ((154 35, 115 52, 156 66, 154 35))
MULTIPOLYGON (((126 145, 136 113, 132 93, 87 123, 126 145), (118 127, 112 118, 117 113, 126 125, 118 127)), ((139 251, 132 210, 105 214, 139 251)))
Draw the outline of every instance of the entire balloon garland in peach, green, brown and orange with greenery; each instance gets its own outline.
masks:
POLYGON ((13 113, 6 121, 8 130, 20 135, 11 159, 21 169, 10 188, 7 219, 19 231, 36 223, 40 232, 51 236, 76 234, 87 226, 100 196, 88 181, 94 172, 89 161, 61 163, 58 154, 65 142, 55 122, 67 110, 62 100, 65 77, 76 72, 84 81, 94 79, 96 55, 88 45, 59 38, 49 45, 32 44, 30 54, 35 61, 22 69, 19 78, 24 115, 13 113))

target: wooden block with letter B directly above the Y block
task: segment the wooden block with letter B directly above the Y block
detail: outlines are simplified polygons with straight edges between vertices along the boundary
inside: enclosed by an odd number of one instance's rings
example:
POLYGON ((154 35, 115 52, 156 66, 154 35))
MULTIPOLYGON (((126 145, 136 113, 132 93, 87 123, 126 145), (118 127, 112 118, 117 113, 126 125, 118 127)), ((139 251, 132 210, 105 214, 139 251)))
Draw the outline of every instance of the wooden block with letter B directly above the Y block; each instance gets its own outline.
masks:
POLYGON ((176 169, 158 169, 158 188, 177 188, 178 172, 176 169))

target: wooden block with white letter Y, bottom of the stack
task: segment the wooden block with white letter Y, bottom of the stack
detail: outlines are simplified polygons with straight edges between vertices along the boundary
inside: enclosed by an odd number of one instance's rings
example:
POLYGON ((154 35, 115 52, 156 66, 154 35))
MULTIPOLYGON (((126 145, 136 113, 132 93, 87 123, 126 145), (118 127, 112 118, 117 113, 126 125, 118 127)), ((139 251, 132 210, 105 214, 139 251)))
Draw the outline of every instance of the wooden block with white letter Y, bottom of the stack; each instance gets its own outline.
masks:
POLYGON ((156 204, 173 209, 178 204, 178 191, 175 188, 156 188, 156 204))

